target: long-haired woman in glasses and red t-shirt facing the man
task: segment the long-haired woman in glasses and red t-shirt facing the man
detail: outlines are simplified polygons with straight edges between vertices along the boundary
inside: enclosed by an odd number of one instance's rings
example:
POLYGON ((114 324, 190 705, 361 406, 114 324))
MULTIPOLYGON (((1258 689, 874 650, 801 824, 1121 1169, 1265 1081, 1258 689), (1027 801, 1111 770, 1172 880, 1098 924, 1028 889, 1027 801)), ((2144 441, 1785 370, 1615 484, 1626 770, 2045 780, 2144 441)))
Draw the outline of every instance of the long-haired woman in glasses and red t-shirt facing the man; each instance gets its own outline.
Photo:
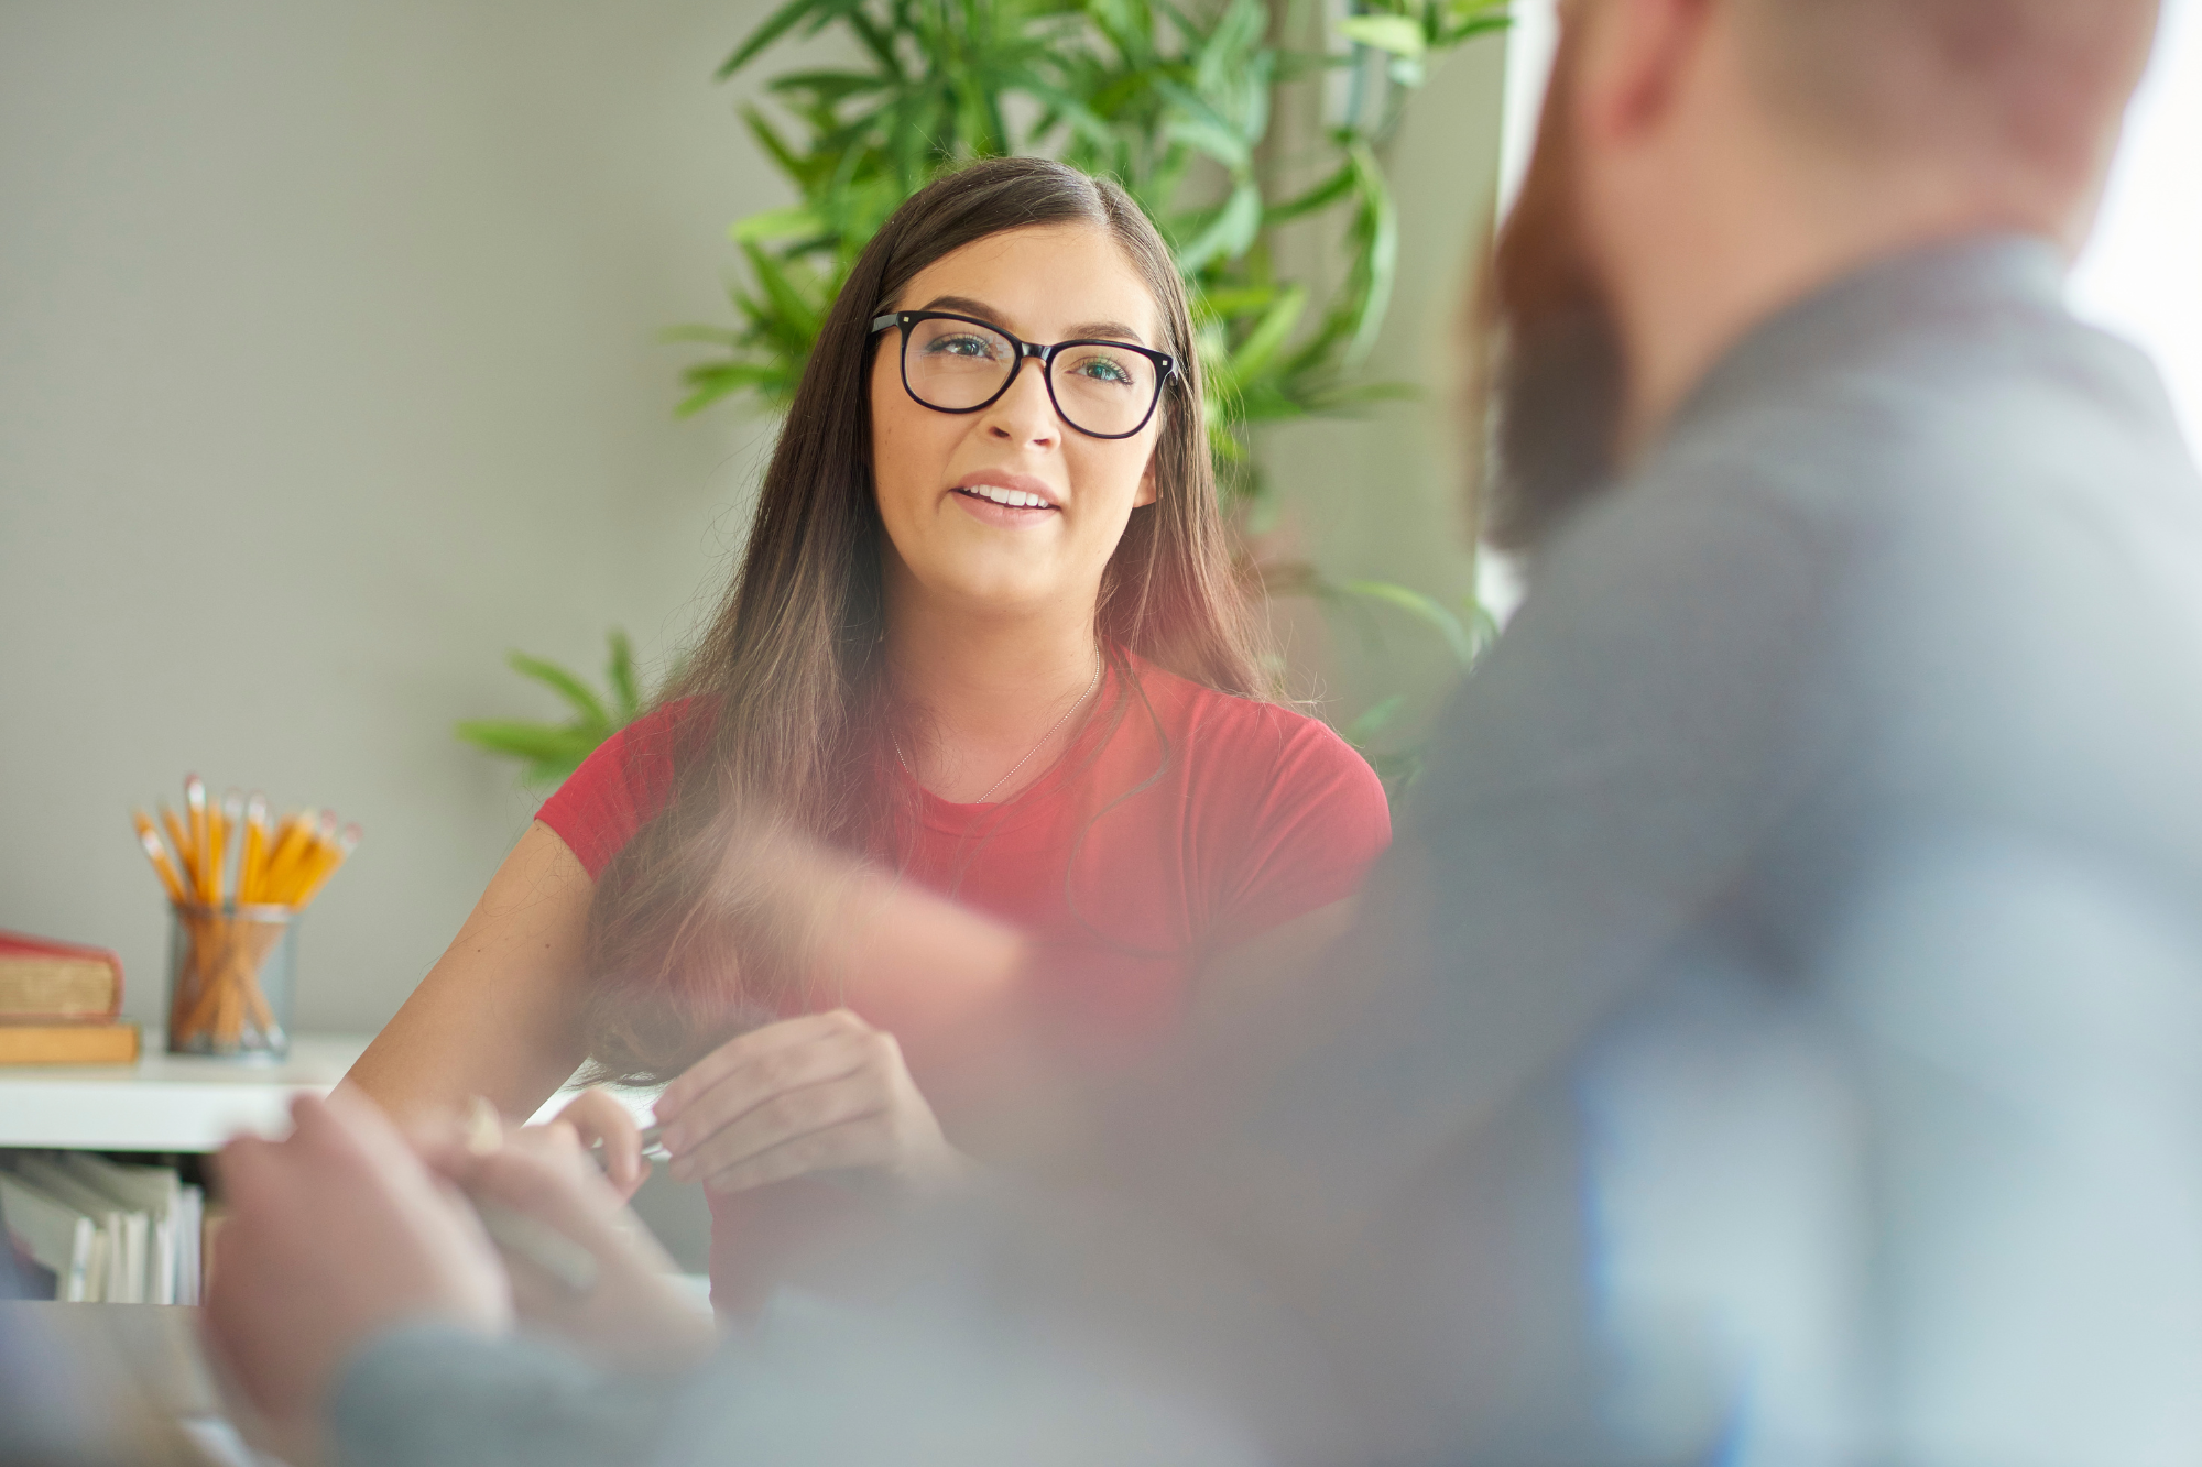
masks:
MULTIPOLYGON (((766 976, 729 833, 795 830, 1022 932, 1050 1062, 1116 1064, 1207 958, 1350 896, 1389 839, 1367 764, 1264 698, 1251 612, 1160 236, 1055 163, 940 178, 826 317, 678 685, 542 806, 352 1082, 399 1115, 526 1117, 584 1060, 685 1075, 674 1176, 711 1194, 716 1302, 753 1308, 881 1192, 850 1178, 953 1176, 986 1088, 766 976), (742 921, 746 949, 698 938, 742 921)), ((625 1115, 570 1115, 636 1185, 625 1115)))

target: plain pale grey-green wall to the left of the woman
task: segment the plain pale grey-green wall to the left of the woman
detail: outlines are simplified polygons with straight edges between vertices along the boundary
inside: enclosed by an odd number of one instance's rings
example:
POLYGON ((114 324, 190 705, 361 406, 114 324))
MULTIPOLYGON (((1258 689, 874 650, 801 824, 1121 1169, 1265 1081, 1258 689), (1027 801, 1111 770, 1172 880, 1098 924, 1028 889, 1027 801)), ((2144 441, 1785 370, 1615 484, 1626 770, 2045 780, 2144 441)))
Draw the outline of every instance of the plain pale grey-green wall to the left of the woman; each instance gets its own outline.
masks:
POLYGON ((720 577, 755 430, 674 423, 784 203, 711 70, 760 7, 0 7, 0 925, 121 952, 185 771, 366 844, 299 1022, 372 1029, 533 804, 451 738, 506 648, 645 654, 720 577))

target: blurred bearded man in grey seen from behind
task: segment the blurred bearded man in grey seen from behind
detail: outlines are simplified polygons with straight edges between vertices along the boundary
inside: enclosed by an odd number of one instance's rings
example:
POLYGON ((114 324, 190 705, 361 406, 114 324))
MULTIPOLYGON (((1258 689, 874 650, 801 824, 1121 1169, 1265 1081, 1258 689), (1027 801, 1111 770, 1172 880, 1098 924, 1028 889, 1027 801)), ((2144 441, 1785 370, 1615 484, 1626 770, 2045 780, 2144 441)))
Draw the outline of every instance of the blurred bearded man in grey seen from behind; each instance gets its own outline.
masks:
POLYGON ((1530 593, 1216 1097, 1376 1460, 2202 1449, 2202 485, 2063 304, 2154 24, 1561 4, 1530 593))

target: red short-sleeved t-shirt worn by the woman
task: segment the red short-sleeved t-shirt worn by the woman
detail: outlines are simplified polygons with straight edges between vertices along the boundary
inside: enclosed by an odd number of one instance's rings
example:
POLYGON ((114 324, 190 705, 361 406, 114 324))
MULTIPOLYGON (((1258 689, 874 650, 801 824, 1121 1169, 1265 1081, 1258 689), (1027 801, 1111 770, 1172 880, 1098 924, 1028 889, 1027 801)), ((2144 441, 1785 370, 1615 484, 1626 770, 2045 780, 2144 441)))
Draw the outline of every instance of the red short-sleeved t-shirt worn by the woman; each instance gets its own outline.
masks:
MULTIPOLYGON (((1046 985, 1035 996, 1077 1020, 1068 1031, 1094 1062, 1167 1031, 1204 954, 1350 896, 1392 839, 1383 784, 1326 725, 1132 665, 1136 687, 1121 689, 1112 672, 1101 714, 1015 800, 949 804, 914 791, 920 819, 905 850, 865 852, 1024 932, 1033 982, 1046 985)), ((683 716, 672 705, 614 734, 537 813, 590 877, 663 806, 683 716)), ((887 778, 909 775, 892 764, 887 778)), ((953 1137, 953 1082, 929 1077, 923 1055, 907 1060, 953 1137)), ((841 1194, 784 1183, 713 1196, 722 1306, 762 1297, 771 1238, 804 1227, 802 1205, 766 1216, 775 1192, 788 1203, 841 1194)))

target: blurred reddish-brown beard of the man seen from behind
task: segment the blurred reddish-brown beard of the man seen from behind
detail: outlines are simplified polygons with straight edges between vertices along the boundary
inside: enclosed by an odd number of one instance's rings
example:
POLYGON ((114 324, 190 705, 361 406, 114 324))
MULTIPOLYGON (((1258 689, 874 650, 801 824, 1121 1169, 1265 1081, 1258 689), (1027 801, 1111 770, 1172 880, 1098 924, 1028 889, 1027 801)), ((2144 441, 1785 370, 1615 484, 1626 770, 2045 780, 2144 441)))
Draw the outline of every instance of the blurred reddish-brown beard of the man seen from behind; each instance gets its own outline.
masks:
POLYGON ((1574 205, 1570 73, 1563 37, 1482 313, 1495 445, 1484 540, 1506 551, 1541 546, 1612 482, 1621 430, 1621 335, 1574 205))

